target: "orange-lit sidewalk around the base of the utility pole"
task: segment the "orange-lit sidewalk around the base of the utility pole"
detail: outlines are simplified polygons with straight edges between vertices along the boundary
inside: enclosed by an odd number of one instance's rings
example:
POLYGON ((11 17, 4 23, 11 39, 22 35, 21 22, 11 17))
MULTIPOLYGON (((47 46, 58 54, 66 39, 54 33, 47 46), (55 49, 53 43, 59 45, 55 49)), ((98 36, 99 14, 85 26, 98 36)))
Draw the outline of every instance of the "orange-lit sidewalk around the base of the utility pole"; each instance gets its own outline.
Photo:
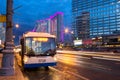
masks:
MULTIPOLYGON (((1 68, 1 62, 2 62, 2 54, 0 53, 0 68, 1 68)), ((15 58, 15 74, 13 76, 0 76, 0 80, 25 80, 16 62, 16 58, 15 58)))

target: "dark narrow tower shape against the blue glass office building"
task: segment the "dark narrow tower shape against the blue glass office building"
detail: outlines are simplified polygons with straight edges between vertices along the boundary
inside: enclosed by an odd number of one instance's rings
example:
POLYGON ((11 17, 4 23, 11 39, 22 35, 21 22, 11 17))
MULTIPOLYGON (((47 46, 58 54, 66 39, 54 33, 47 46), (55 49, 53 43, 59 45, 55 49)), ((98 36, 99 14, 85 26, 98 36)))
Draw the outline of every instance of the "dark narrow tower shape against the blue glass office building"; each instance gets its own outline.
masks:
POLYGON ((79 39, 89 38, 89 13, 84 12, 81 16, 76 17, 76 29, 79 39))

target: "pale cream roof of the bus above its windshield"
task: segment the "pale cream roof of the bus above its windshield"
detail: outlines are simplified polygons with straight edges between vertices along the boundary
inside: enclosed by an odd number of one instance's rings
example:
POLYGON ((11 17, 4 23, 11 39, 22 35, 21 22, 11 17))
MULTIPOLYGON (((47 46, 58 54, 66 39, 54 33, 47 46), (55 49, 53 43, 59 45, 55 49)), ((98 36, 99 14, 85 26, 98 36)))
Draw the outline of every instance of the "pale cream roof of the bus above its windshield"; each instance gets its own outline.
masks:
POLYGON ((24 37, 51 37, 55 38, 54 35, 45 32, 27 32, 24 34, 24 37))

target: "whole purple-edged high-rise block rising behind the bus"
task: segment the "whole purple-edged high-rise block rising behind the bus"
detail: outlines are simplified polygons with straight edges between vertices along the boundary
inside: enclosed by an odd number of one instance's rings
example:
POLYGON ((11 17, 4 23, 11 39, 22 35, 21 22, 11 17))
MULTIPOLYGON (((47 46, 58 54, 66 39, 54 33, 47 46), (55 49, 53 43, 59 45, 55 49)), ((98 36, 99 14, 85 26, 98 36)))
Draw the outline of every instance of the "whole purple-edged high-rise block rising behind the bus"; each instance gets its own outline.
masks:
POLYGON ((34 31, 53 34, 57 43, 63 42, 63 13, 57 12, 45 20, 38 20, 34 31))

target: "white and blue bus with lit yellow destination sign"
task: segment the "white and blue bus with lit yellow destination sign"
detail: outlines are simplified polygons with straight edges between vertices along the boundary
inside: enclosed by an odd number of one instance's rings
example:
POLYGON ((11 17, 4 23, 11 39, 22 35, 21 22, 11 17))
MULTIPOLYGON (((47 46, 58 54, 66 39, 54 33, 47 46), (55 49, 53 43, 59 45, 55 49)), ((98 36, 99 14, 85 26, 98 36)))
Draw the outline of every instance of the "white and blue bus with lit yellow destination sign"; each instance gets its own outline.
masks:
POLYGON ((56 37, 49 33, 27 32, 21 38, 21 62, 24 68, 56 65, 56 37))

